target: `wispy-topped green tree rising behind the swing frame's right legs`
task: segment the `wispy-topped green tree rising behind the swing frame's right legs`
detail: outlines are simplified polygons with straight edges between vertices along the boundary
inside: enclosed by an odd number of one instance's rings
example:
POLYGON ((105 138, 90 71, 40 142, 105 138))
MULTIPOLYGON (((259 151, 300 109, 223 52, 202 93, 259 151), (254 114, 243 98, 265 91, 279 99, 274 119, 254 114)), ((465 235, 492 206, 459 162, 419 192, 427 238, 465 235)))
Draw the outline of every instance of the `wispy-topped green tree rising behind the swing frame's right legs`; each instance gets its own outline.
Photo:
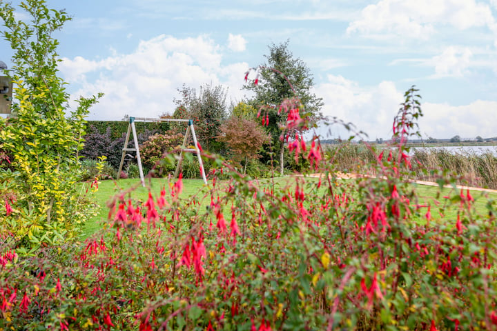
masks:
POLYGON ((178 107, 173 117, 193 119, 195 132, 202 148, 211 152, 220 152, 216 137, 220 133, 221 123, 227 117, 226 91, 222 86, 205 84, 200 92, 194 88, 183 86, 178 89, 182 99, 175 99, 178 107))

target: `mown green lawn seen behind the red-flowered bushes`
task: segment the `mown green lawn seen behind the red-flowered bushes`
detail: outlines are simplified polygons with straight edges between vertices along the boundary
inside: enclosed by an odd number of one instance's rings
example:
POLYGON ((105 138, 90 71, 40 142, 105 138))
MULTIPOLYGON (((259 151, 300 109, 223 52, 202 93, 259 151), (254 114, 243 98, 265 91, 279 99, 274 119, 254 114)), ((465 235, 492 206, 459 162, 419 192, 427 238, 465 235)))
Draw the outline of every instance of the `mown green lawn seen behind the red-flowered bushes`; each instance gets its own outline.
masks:
MULTIPOLYGON (((274 181, 277 186, 283 186, 286 183, 289 183, 293 177, 280 177, 275 178, 274 181)), ((318 180, 307 178, 307 180, 318 180)), ((269 179, 264 179, 260 181, 260 183, 268 183, 269 179)), ((166 187, 166 192, 168 192, 167 188, 169 185, 169 181, 166 178, 153 178, 146 179, 146 184, 148 187, 144 188, 140 185, 139 179, 119 179, 119 181, 101 181, 99 183, 99 189, 95 192, 95 200, 99 205, 97 209, 97 216, 90 219, 85 227, 83 237, 88 237, 91 234, 97 232, 99 228, 101 228, 101 221, 105 221, 108 216, 109 208, 107 206, 107 202, 115 197, 117 194, 129 194, 129 192, 133 191, 132 197, 133 199, 139 201, 146 201, 148 199, 148 190, 152 192, 154 197, 157 197, 162 190, 163 187, 166 187)), ((197 194, 197 197, 202 198, 205 194, 208 194, 209 186, 204 185, 202 179, 183 179, 183 192, 181 194, 182 198, 191 197, 197 194)), ((211 183, 209 183, 211 185, 211 183)), ((220 183, 222 185, 222 182, 220 183)), ((436 203, 434 201, 440 202, 440 207, 444 205, 447 199, 445 196, 454 197, 454 195, 458 195, 460 190, 453 190, 451 188, 442 188, 440 190, 435 186, 427 186, 427 185, 418 185, 413 184, 414 188, 418 192, 418 196, 420 197, 420 204, 430 203, 431 204, 431 214, 433 219, 442 218, 437 211, 436 203)), ((466 191, 465 191, 466 193, 466 191)), ((481 192, 481 191, 471 191, 471 195, 475 199, 476 210, 481 214, 487 214, 487 209, 485 206, 487 205, 489 199, 497 201, 496 193, 489 192, 481 192)), ((126 197, 127 199, 127 197, 126 197)), ((210 203, 210 199, 205 199, 203 205, 208 205, 210 203)), ((457 217, 458 205, 451 205, 445 208, 445 215, 443 219, 446 221, 455 220, 457 217)), ((423 220, 420 220, 423 221, 423 220)))

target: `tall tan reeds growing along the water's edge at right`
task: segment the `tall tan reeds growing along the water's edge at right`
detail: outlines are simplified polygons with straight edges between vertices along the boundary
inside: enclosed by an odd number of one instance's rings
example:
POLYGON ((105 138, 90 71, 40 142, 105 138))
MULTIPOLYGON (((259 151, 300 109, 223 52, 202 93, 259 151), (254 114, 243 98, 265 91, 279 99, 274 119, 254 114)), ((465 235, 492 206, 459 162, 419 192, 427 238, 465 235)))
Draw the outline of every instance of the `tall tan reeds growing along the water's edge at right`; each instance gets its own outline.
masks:
MULTIPOLYGON (((327 155, 342 172, 375 175, 368 164, 380 154, 374 146, 342 143, 328 146, 327 155)), ((398 157, 395 149, 383 150, 384 157, 389 153, 398 157)), ((445 148, 414 149, 411 155, 411 178, 422 181, 436 181, 440 172, 451 174, 458 183, 480 188, 497 189, 497 156, 491 152, 477 154, 471 150, 456 153, 445 148)))

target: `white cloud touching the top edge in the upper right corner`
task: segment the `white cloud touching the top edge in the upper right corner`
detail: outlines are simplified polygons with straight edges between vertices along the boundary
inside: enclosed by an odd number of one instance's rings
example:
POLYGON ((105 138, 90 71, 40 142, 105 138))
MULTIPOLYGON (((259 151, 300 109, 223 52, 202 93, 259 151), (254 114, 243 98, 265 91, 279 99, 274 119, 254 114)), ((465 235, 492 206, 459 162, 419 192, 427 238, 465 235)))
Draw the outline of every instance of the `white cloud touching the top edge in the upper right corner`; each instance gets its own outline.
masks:
POLYGON ((381 0, 364 8, 349 24, 347 34, 393 34, 396 37, 427 39, 435 26, 451 25, 459 30, 486 26, 497 32, 490 7, 475 0, 381 0))

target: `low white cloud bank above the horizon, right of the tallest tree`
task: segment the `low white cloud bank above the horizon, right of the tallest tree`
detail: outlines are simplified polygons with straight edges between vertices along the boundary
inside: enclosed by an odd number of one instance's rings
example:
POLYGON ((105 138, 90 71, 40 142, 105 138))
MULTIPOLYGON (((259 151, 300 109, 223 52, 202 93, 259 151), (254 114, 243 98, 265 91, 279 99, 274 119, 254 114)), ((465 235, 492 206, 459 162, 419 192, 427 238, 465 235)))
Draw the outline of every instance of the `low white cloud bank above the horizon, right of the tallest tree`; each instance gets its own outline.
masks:
MULTIPOLYGON (((324 99, 323 112, 329 117, 338 117, 353 123, 358 130, 369 135, 369 139, 389 139, 392 134, 393 117, 403 101, 403 92, 391 81, 382 81, 377 86, 360 87, 358 83, 341 76, 329 75, 328 81, 316 87, 316 94, 324 99)), ((497 101, 474 101, 463 106, 448 103, 422 102, 423 114, 419 121, 423 138, 495 137, 497 131, 489 118, 497 116, 497 101)), ((320 128, 324 139, 349 137, 349 132, 335 125, 320 128)))

